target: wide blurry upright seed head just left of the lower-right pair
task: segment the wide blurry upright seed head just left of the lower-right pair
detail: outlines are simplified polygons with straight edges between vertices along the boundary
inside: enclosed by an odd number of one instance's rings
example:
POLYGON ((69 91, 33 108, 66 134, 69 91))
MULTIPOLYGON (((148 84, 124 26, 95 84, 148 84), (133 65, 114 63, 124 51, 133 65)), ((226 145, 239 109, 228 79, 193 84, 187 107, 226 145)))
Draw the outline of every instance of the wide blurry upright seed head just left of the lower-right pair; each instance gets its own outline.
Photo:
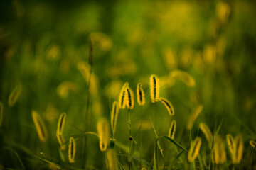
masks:
POLYGON ((215 137, 214 141, 214 148, 213 148, 213 155, 212 155, 212 161, 215 164, 224 164, 227 160, 226 153, 225 153, 225 147, 222 138, 220 135, 217 135, 215 137))

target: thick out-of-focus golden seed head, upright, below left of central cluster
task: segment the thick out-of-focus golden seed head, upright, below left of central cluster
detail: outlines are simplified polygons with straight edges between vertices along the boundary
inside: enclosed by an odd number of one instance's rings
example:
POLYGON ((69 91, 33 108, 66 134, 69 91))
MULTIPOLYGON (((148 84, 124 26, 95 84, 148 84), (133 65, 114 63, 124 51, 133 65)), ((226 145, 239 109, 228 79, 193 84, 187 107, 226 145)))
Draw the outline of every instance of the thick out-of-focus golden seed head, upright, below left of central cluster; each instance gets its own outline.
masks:
POLYGON ((98 120, 97 132, 100 138, 100 151, 105 151, 110 142, 110 125, 106 118, 98 120))

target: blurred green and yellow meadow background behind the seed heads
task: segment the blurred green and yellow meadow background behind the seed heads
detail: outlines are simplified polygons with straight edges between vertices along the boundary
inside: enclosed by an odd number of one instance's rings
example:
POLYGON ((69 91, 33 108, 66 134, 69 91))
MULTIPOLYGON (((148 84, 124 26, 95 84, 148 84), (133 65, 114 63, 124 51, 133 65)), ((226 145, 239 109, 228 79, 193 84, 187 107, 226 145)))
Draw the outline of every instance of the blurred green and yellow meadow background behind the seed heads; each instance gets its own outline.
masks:
MULTIPOLYGON (((110 118, 124 82, 136 91, 140 82, 146 94, 143 115, 143 157, 153 158, 154 132, 149 115, 158 113, 159 136, 167 135, 176 120, 176 140, 187 146, 189 115, 199 104, 203 111, 192 130, 206 123, 220 135, 242 133, 245 146, 255 140, 256 90, 255 1, 0 1, 0 101, 4 105, 0 127, 0 164, 18 168, 14 149, 28 169, 48 167, 31 155, 43 152, 46 159, 63 163, 55 130, 60 113, 67 113, 64 136, 80 133, 88 99, 89 44, 93 43, 90 88, 90 123, 96 132, 97 119, 110 118), (83 70, 83 71, 82 71, 83 70), (176 70, 186 78, 174 79, 176 70), (169 118, 164 105, 152 109, 149 77, 159 76, 161 96, 174 105, 169 118), (185 74, 185 73, 184 73, 185 74), (22 86, 14 106, 8 98, 22 86), (49 133, 40 142, 31 111, 42 116, 49 133), (149 141, 152 141, 149 142, 149 141)), ((139 106, 132 111, 134 136, 139 127, 139 106)), ((127 144, 127 111, 119 113, 117 140, 127 144)), ((102 169, 104 155, 97 137, 88 137, 87 159, 82 160, 82 140, 77 141, 75 167, 86 164, 102 169), (95 158, 97 157, 97 160, 95 158)), ((167 146, 168 142, 163 145, 167 146)), ((246 149, 245 149, 246 150, 246 149)), ((119 149, 117 149, 119 152, 119 149)), ((65 159, 67 159, 67 153, 65 159)), ((125 159, 125 158, 123 158, 125 159)), ((121 159, 122 160, 122 159, 121 159)), ((0 169, 1 169, 0 167, 0 169)))

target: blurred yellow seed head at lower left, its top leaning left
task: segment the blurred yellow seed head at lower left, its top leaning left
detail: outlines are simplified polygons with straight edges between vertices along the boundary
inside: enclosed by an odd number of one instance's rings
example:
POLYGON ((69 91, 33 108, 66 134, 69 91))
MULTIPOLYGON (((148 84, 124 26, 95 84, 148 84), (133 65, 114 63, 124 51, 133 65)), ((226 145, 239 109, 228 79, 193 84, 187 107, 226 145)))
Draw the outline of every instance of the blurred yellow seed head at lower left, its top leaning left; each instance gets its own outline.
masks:
POLYGON ((48 132, 46 130, 46 125, 43 123, 41 116, 36 112, 32 111, 33 122, 36 125, 36 131, 38 133, 38 137, 42 142, 46 142, 48 138, 48 132))

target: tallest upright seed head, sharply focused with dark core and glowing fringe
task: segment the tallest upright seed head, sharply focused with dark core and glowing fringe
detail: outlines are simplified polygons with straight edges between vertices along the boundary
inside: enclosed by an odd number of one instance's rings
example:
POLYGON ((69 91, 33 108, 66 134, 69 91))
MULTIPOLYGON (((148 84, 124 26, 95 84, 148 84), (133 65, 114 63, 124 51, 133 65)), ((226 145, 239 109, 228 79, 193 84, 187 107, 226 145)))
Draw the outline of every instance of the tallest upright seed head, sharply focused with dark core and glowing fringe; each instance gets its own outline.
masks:
POLYGON ((149 89, 150 89, 151 102, 155 103, 156 101, 159 101, 160 82, 156 74, 152 74, 149 78, 149 89))

